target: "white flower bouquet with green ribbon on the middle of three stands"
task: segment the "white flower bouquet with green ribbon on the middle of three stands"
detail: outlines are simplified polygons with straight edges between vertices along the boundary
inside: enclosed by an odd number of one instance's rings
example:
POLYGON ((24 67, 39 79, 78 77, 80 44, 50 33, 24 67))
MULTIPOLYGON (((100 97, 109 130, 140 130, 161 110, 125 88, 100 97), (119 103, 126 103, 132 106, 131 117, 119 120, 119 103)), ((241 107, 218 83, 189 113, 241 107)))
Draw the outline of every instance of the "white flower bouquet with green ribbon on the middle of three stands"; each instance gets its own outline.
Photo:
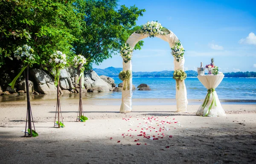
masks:
POLYGON ((51 56, 50 56, 50 60, 49 63, 50 65, 56 69, 56 75, 54 77, 54 81, 55 81, 55 86, 58 85, 58 81, 60 79, 60 75, 61 75, 61 69, 64 69, 66 67, 67 64, 67 58, 66 58, 66 54, 63 54, 60 51, 56 51, 54 52, 51 56))

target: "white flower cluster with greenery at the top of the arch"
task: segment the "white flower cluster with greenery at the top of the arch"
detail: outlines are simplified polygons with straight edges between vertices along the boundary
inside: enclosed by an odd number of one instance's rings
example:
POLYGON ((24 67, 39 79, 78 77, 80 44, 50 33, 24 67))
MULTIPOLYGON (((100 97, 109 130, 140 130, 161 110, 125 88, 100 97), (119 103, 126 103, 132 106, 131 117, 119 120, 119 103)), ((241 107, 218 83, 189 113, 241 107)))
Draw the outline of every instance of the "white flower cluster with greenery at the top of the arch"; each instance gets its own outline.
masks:
POLYGON ((149 37, 155 37, 157 35, 166 35, 165 28, 157 21, 151 21, 143 24, 140 29, 140 33, 149 35, 149 37))

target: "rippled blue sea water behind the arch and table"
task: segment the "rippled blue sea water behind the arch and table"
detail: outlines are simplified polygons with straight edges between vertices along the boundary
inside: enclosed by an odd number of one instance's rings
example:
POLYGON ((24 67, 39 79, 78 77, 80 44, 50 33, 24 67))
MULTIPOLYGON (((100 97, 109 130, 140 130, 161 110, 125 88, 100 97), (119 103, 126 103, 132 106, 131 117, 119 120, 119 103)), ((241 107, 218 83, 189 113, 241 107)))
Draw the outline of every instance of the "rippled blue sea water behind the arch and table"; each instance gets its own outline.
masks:
MULTIPOLYGON (((116 85, 122 81, 113 78, 116 85)), ((151 91, 133 91, 132 98, 175 98, 175 80, 173 78, 133 78, 137 88, 141 83, 148 84, 151 91)), ((187 98, 203 99, 207 89, 198 78, 186 78, 187 98)), ((256 100, 256 78, 223 78, 215 89, 219 99, 256 100)), ((122 98, 122 92, 113 92, 111 98, 122 98)))

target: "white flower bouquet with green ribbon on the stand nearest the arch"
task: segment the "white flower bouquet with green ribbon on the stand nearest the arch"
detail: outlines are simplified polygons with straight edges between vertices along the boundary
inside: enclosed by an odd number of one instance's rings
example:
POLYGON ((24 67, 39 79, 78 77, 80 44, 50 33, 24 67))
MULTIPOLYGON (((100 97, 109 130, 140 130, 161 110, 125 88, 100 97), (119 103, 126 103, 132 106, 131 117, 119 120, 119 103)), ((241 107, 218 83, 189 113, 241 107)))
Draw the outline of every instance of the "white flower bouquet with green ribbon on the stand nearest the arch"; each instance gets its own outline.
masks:
POLYGON ((84 88, 84 64, 86 64, 86 58, 84 58, 82 55, 77 55, 74 57, 73 62, 75 68, 80 67, 80 75, 78 81, 76 82, 76 85, 81 78, 81 87, 84 88))

